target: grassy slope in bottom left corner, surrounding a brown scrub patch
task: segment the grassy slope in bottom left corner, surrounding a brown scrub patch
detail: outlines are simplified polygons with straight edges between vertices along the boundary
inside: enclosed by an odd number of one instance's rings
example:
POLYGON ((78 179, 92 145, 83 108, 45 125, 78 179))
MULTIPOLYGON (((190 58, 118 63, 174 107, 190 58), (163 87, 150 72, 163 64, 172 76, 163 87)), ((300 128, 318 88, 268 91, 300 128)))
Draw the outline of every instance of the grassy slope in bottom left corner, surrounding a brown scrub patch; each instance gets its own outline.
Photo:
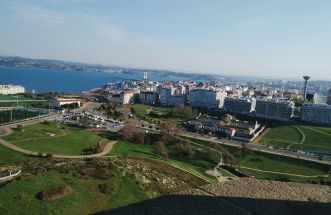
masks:
POLYGON ((111 180, 111 195, 98 191, 103 180, 77 178, 71 174, 48 172, 42 176, 24 177, 0 189, 0 214, 91 214, 150 198, 135 178, 116 175, 111 180), (72 191, 62 199, 47 202, 36 198, 40 191, 69 186, 72 191))

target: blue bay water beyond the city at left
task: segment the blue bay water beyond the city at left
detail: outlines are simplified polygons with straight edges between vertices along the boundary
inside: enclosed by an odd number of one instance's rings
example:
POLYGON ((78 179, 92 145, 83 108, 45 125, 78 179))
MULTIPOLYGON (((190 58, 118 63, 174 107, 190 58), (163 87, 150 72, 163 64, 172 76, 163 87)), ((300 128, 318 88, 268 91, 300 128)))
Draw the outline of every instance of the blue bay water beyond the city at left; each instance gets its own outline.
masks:
MULTIPOLYGON (((39 69, 26 67, 0 66, 0 82, 21 85, 26 90, 42 93, 82 92, 101 87, 109 82, 124 80, 141 80, 142 74, 126 75, 105 72, 64 71, 57 69, 39 69)), ((153 77, 152 80, 163 80, 164 77, 153 77)))

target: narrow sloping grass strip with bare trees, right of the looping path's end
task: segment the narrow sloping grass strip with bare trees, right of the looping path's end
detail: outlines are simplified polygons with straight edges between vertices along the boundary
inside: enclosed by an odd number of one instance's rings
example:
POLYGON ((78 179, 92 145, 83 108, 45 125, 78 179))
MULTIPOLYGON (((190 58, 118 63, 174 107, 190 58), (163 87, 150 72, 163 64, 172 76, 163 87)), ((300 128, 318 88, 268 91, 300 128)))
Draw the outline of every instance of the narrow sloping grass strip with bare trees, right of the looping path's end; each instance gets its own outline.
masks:
POLYGON ((214 177, 205 173, 206 170, 214 168, 215 164, 200 159, 188 159, 184 157, 169 157, 165 160, 154 153, 153 147, 151 145, 119 141, 113 146, 113 149, 109 155, 160 160, 168 164, 173 164, 180 168, 186 169, 209 181, 215 181, 214 177))

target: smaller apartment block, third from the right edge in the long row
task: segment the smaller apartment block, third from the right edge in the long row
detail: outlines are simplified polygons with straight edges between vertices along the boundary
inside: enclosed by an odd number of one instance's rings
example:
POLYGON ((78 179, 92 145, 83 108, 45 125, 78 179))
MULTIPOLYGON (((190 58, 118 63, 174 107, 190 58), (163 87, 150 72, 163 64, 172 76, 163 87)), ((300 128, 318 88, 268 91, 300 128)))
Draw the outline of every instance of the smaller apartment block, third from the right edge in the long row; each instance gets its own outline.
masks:
POLYGON ((224 110, 229 113, 249 114, 255 111, 256 99, 244 97, 226 97, 224 99, 224 110))

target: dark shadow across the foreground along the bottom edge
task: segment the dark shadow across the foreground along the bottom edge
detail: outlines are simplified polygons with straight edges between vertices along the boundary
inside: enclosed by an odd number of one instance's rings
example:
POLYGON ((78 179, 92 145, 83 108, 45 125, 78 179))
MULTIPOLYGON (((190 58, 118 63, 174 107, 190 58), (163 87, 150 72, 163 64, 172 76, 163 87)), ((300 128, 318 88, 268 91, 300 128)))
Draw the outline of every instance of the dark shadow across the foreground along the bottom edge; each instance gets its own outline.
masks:
POLYGON ((95 215, 290 215, 330 214, 331 203, 283 201, 239 197, 166 195, 102 211, 95 215))

